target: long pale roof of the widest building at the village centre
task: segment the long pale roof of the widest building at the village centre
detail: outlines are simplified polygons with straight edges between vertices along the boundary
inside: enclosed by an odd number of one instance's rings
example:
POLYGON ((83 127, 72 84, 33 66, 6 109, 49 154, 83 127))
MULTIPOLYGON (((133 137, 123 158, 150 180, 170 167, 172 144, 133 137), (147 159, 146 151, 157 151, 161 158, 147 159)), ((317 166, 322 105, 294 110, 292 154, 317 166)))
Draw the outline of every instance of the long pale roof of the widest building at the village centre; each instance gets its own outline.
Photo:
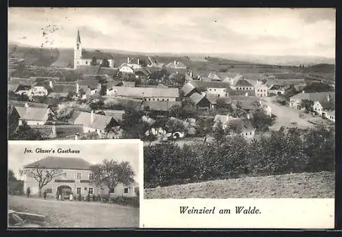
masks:
POLYGON ((125 87, 114 86, 117 95, 123 97, 179 97, 178 88, 147 88, 147 87, 125 87))

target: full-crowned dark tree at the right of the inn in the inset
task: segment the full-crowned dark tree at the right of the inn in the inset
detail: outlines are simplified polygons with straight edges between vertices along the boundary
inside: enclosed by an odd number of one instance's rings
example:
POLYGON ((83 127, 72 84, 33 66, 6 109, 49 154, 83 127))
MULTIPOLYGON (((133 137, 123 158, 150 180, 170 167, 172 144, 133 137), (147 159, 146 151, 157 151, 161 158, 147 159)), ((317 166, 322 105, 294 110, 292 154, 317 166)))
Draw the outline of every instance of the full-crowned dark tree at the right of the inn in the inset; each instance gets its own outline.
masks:
POLYGON ((115 160, 103 160, 102 163, 91 166, 90 171, 94 174, 92 182, 98 186, 107 186, 108 195, 114 192, 114 188, 118 184, 128 186, 134 182, 135 173, 129 162, 119 163, 115 160))

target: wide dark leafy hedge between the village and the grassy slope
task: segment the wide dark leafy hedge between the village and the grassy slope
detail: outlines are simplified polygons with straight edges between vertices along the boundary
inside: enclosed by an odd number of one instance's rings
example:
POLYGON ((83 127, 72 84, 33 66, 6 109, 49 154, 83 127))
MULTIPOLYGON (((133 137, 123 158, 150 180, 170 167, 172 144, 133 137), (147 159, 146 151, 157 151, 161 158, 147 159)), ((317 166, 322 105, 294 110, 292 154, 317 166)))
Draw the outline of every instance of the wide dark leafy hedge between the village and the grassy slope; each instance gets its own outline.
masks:
POLYGON ((144 188, 241 176, 334 170, 334 130, 284 129, 247 142, 241 136, 222 142, 144 148, 144 188))

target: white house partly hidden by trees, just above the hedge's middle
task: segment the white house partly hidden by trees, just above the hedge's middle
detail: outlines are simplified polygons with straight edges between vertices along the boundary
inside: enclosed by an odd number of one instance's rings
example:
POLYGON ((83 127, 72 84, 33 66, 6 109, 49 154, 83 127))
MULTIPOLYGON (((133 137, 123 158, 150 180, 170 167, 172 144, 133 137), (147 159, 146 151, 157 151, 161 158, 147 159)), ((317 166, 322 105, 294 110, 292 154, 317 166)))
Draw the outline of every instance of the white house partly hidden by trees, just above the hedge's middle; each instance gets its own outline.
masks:
POLYGON ((222 129, 229 129, 228 135, 241 135, 244 138, 253 138, 255 134, 255 127, 253 127, 249 115, 247 118, 234 118, 228 114, 216 114, 214 118, 213 127, 218 126, 218 123, 222 124, 222 129))

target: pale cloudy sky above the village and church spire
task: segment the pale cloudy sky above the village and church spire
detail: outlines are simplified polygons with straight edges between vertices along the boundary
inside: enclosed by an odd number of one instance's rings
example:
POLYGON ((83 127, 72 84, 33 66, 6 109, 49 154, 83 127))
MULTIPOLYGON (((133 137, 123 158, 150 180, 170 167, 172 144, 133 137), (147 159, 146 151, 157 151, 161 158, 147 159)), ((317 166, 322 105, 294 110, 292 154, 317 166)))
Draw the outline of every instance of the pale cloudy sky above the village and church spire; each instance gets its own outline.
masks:
POLYGON ((9 8, 10 42, 72 48, 78 28, 85 49, 335 55, 333 8, 9 8))

